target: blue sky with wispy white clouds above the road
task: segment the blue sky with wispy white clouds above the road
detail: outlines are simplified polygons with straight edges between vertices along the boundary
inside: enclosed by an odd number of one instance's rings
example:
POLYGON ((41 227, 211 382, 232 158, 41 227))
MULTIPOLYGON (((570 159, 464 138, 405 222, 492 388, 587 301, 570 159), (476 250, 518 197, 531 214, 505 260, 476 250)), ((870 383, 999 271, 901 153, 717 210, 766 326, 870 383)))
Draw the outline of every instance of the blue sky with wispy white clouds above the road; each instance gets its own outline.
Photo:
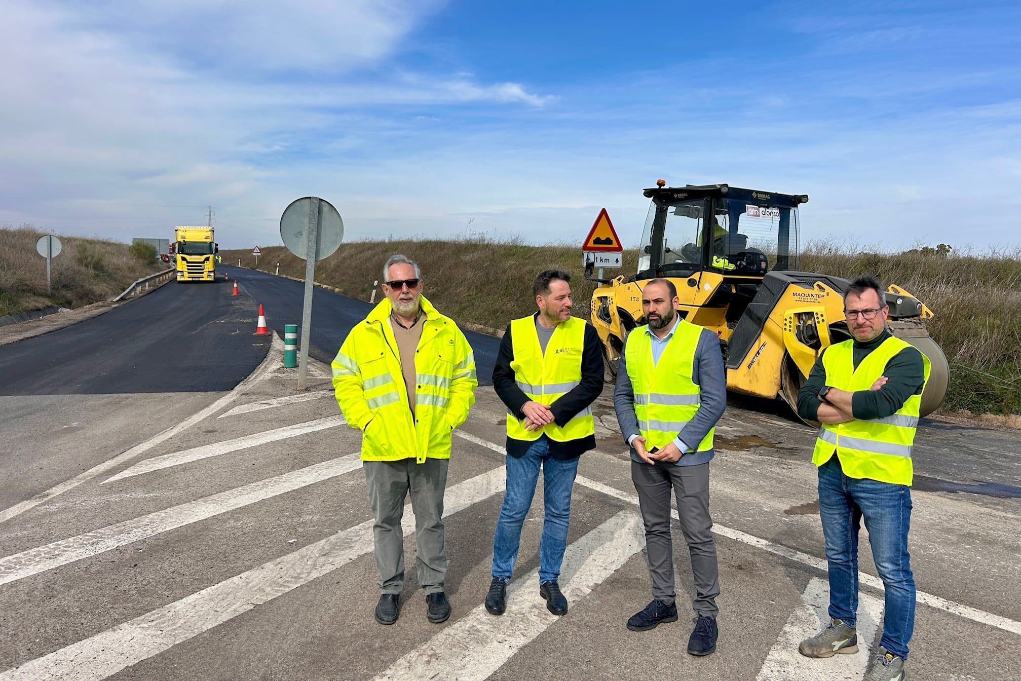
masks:
POLYGON ((280 242, 639 237, 658 178, 809 194, 801 241, 1015 248, 1017 2, 0 0, 0 224, 280 242), (472 221, 469 224, 469 221, 472 221))

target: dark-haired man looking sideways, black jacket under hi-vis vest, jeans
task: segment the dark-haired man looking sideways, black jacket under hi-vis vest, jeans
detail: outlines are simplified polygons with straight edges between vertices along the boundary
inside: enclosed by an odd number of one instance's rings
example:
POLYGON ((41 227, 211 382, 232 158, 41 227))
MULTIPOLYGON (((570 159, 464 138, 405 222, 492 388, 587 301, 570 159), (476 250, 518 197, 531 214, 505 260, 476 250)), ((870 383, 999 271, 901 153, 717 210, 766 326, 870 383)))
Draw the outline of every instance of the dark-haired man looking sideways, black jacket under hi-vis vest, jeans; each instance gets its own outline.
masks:
POLYGON ((532 285, 539 308, 513 321, 493 368, 493 389, 507 407, 506 488, 493 537, 492 582, 486 610, 502 615, 518 561, 521 529, 539 470, 545 514, 539 540, 539 595, 546 610, 566 615, 561 565, 571 520, 578 457, 595 448, 591 403, 602 392, 602 346, 585 320, 571 317, 571 275, 540 272, 532 285))

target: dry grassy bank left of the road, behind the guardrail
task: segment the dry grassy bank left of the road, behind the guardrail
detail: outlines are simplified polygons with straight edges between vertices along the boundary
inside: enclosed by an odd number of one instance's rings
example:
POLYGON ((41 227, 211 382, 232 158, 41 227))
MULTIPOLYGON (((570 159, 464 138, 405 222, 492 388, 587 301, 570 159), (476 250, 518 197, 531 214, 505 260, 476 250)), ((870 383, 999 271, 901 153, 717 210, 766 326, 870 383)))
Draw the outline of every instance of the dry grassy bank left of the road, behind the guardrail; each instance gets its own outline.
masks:
POLYGON ((36 252, 36 241, 44 234, 31 225, 0 227, 0 315, 50 305, 88 305, 166 267, 141 262, 128 244, 58 235, 61 251, 51 262, 53 293, 47 296, 46 259, 36 252))

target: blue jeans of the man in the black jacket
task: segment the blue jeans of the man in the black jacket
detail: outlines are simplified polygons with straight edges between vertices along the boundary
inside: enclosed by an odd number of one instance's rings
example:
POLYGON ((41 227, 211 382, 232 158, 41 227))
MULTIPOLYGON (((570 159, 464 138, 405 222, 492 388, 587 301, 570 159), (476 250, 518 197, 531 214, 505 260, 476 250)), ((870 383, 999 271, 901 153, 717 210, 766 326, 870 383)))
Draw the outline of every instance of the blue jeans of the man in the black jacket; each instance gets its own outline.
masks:
POLYGON ((578 475, 578 459, 558 460, 549 455, 549 440, 539 437, 521 458, 506 455, 507 484, 503 505, 493 537, 493 577, 510 579, 518 561, 521 527, 532 507, 535 485, 542 468, 545 516, 542 538, 539 540, 539 582, 561 576, 561 564, 568 545, 568 524, 571 520, 571 489, 578 475))

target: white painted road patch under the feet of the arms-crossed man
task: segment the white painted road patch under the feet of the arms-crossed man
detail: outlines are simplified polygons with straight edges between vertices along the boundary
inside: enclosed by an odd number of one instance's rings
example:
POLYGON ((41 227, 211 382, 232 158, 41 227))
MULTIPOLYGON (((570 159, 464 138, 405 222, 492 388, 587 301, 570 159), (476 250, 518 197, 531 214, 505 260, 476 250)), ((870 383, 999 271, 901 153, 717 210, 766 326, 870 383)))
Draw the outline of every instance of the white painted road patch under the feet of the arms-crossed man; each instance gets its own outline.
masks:
POLYGON ((858 652, 835 654, 825 660, 806 658, 797 644, 822 631, 829 623, 829 587, 813 577, 801 594, 803 602, 790 614, 776 643, 766 655, 756 681, 796 681, 798 679, 860 679, 869 664, 869 648, 883 616, 883 601, 867 593, 859 594, 858 652))

